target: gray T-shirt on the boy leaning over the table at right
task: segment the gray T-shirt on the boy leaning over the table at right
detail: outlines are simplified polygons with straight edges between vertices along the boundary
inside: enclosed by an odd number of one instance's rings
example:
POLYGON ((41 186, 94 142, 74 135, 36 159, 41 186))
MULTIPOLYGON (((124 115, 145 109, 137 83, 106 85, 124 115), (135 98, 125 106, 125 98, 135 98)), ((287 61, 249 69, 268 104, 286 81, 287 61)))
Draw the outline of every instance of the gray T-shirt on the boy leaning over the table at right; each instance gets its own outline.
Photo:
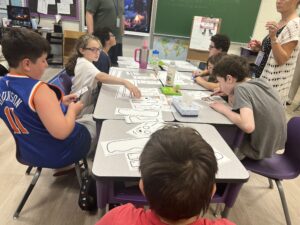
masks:
POLYGON ((278 93, 263 79, 238 84, 233 110, 253 110, 255 130, 245 135, 240 152, 252 159, 271 157, 283 149, 287 136, 286 117, 278 93))

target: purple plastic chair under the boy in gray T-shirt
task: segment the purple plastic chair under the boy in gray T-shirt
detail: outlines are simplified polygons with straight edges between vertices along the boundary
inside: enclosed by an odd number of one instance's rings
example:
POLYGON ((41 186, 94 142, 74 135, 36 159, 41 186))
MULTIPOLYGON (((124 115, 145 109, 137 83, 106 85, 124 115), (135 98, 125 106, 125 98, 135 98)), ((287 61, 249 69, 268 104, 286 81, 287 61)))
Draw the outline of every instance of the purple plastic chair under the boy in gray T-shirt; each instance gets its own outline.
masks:
POLYGON ((275 154, 271 158, 263 160, 245 159, 242 161, 246 169, 267 177, 270 188, 273 188, 272 180, 276 182, 286 223, 291 225, 287 203, 284 196, 281 180, 294 179, 300 173, 300 117, 294 117, 288 122, 287 141, 283 154, 275 154))

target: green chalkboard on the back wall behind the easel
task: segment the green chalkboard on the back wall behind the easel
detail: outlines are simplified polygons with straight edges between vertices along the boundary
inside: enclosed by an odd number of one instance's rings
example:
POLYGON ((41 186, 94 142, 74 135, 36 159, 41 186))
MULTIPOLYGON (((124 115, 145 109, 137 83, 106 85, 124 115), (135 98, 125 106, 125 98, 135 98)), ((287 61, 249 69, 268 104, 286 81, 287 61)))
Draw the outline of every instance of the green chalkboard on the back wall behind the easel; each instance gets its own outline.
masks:
POLYGON ((158 0, 156 34, 191 35, 194 16, 221 18, 220 33, 234 42, 248 42, 261 0, 158 0))

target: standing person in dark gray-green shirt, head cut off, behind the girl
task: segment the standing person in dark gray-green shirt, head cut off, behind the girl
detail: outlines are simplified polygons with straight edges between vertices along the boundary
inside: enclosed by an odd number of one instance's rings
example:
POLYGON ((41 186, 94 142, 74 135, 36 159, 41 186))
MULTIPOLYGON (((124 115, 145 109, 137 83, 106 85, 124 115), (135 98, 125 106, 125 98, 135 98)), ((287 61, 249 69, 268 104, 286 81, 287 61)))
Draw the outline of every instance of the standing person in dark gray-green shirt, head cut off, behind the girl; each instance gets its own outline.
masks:
POLYGON ((108 27, 116 37, 117 44, 109 51, 111 63, 117 64, 123 55, 123 14, 124 0, 88 0, 86 5, 86 25, 89 34, 108 27))

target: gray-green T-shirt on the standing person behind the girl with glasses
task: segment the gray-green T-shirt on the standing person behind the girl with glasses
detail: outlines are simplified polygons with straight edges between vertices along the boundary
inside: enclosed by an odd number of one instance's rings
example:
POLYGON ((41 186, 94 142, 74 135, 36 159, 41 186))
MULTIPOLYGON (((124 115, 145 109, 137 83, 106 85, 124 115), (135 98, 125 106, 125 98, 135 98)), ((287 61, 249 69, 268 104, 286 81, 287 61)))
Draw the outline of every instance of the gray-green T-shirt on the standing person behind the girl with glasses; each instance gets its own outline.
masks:
POLYGON ((121 22, 117 27, 117 17, 123 19, 124 0, 88 0, 86 11, 93 14, 94 31, 108 27, 116 36, 117 43, 122 43, 121 22))

